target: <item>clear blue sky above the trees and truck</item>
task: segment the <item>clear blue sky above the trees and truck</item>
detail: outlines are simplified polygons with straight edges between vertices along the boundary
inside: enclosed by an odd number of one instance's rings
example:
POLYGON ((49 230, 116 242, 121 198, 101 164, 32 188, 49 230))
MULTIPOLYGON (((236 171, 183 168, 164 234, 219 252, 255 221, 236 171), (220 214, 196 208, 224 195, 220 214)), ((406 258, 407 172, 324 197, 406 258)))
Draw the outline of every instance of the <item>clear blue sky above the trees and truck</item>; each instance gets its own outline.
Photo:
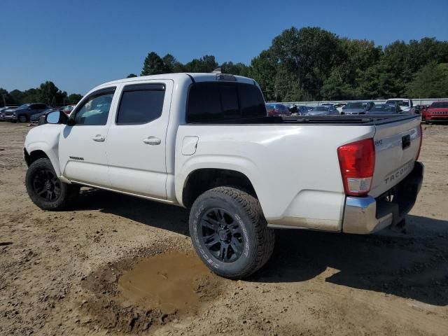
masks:
POLYGON ((448 0, 2 0, 0 8, 0 87, 9 91, 52 80, 84 94, 139 74, 150 51, 250 64, 292 26, 378 45, 448 40, 448 0))

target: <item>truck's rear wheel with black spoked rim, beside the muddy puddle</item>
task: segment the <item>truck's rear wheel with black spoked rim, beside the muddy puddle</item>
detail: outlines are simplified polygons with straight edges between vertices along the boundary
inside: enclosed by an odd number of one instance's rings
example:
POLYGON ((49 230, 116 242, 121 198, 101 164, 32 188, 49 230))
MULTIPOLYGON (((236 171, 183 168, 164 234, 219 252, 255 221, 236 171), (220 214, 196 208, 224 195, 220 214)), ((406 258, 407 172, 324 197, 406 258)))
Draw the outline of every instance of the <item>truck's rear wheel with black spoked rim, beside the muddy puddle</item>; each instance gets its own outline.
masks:
POLYGON ((274 251, 274 230, 267 228, 260 202, 231 187, 197 197, 190 211, 190 236, 204 264, 228 279, 253 274, 274 251))

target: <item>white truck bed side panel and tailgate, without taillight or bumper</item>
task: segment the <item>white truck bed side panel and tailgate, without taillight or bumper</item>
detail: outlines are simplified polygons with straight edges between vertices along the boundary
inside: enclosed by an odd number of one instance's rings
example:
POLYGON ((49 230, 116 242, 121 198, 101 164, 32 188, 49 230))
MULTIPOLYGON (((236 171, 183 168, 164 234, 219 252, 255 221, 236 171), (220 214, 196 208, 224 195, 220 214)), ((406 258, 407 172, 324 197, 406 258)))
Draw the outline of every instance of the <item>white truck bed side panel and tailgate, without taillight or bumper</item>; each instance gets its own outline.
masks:
MULTIPOLYGON (((373 139, 368 195, 378 197, 409 174, 419 150, 420 116, 265 117, 180 125, 176 194, 196 167, 242 172, 253 183, 268 223, 342 230, 344 186, 337 148, 373 139), (311 126, 318 126, 317 128, 311 126), (193 154, 185 139, 197 139, 193 154), (402 146, 407 139, 407 146, 402 146), (391 176, 393 175, 393 179, 391 176)), ((191 146, 190 146, 191 147, 191 146)))

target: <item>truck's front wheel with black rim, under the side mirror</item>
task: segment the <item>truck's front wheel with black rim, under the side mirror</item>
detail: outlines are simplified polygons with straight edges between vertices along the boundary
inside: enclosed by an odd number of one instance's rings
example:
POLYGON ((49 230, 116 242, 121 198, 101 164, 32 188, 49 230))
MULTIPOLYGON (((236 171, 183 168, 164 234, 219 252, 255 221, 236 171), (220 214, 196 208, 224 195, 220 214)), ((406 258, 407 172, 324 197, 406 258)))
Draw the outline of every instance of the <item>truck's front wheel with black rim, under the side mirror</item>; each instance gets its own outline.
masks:
POLYGON ((55 169, 47 158, 29 165, 25 185, 31 200, 43 210, 65 209, 76 200, 80 187, 59 181, 55 169))

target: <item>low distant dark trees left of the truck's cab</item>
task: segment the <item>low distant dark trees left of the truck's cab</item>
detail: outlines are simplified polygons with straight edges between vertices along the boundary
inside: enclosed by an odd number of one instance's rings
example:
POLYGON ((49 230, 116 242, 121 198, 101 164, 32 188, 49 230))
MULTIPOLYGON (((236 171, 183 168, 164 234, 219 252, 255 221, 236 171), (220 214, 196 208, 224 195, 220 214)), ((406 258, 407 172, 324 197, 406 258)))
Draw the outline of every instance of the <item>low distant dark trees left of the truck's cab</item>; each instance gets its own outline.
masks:
POLYGON ((22 105, 27 103, 45 103, 48 105, 62 106, 76 104, 83 97, 82 94, 67 94, 59 90, 55 83, 47 80, 36 88, 25 91, 13 90, 8 92, 0 87, 0 106, 22 105), (4 100, 3 100, 3 99, 4 100))

